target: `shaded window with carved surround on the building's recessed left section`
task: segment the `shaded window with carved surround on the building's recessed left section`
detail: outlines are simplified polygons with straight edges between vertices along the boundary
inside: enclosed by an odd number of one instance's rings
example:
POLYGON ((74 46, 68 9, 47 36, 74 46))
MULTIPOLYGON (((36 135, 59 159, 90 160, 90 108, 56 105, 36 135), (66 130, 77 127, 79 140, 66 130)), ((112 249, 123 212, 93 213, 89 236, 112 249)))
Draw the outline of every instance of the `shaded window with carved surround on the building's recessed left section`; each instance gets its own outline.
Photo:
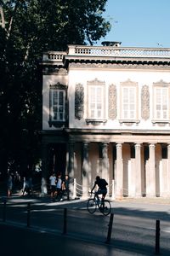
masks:
POLYGON ((48 124, 63 125, 65 122, 66 86, 64 84, 50 85, 49 89, 49 121, 48 124))

